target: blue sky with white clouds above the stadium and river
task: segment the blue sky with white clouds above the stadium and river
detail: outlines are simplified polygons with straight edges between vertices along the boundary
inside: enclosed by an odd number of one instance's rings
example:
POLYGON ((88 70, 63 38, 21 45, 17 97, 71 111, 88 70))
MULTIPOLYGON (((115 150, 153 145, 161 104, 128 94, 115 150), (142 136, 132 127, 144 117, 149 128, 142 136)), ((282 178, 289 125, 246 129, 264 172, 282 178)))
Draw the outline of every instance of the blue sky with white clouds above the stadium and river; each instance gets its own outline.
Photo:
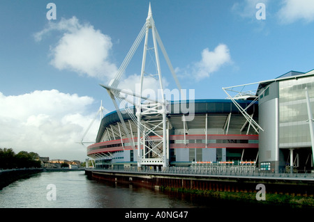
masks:
MULTIPOLYGON (((312 0, 150 2, 181 88, 195 99, 225 99, 223 87, 314 69, 312 0)), ((115 110, 99 84, 114 78, 148 8, 148 0, 1 0, 0 148, 84 161, 88 144, 77 142, 93 121, 84 141, 95 141, 100 102, 104 114, 115 110)), ((119 88, 135 90, 143 45, 119 88)), ((159 56, 163 87, 177 88, 159 56)))

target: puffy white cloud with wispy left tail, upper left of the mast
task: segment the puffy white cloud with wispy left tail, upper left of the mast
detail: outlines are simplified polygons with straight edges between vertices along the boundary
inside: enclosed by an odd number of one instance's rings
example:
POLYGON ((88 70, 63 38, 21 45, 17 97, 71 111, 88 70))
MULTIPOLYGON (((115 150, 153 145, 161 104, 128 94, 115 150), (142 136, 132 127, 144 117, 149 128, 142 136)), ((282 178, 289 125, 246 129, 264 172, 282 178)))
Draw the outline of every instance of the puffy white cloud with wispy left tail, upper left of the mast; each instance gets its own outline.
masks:
POLYGON ((107 80, 117 72, 117 66, 110 61, 112 41, 90 24, 80 24, 76 17, 49 22, 46 29, 36 33, 37 41, 52 31, 61 31, 57 45, 51 47, 51 64, 59 70, 71 70, 79 74, 107 80))

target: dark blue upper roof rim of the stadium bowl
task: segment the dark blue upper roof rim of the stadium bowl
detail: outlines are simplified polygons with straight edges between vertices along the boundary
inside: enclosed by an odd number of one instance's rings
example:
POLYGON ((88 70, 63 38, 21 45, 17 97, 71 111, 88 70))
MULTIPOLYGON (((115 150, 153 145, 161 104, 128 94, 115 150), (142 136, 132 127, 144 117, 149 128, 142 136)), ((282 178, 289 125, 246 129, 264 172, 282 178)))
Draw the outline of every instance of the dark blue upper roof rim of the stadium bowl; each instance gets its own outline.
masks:
MULTIPOLYGON (((244 109, 246 109, 246 107, 249 106, 251 102, 251 100, 237 100, 237 103, 244 109)), ((230 125, 232 125, 232 128, 241 129, 241 127, 244 127, 246 125, 246 118, 242 116, 237 106, 235 106, 231 100, 184 100, 172 101, 170 106, 168 107, 168 110, 170 110, 170 112, 168 113, 168 120, 170 121, 172 128, 183 128, 183 121, 181 117, 183 114, 188 116, 190 115, 190 113, 182 112, 181 108, 188 109, 188 107, 186 106, 192 105, 193 103, 195 116, 193 118, 193 121, 186 122, 186 127, 188 127, 188 129, 204 128, 205 120, 204 115, 202 114, 205 113, 210 114, 207 116, 207 121, 209 122, 209 126, 211 128, 222 129, 225 126, 226 119, 231 114, 234 114, 232 115, 232 118, 230 118, 230 125)), ((130 110, 135 114, 135 107, 131 107, 130 110)), ((131 121, 131 118, 127 112, 124 112, 123 109, 121 109, 120 111, 122 118, 124 118, 124 121, 131 121)), ((254 113, 255 118, 257 118, 257 102, 254 102, 254 104, 250 106, 246 111, 251 114, 254 113)), ((100 141, 106 127, 108 127, 109 125, 114 125, 117 122, 120 122, 117 111, 107 113, 100 123, 96 142, 100 141)), ((133 132, 137 132, 137 128, 134 123, 130 123, 128 127, 132 127, 133 132)))

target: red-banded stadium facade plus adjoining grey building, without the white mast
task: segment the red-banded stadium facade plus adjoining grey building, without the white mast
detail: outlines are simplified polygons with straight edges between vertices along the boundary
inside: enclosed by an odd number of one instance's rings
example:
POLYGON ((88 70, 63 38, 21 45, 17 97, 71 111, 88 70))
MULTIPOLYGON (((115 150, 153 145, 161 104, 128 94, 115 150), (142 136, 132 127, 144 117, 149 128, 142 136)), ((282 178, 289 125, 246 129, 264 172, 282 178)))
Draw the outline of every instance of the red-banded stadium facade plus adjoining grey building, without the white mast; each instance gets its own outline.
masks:
MULTIPOLYGON (((251 97, 235 101, 260 125, 262 130, 258 133, 232 100, 195 100, 195 116, 190 121, 184 121, 184 113, 167 113, 167 164, 190 166, 233 161, 255 162, 259 170, 272 172, 313 170, 313 120, 308 120, 314 114, 314 70, 291 71, 276 79, 260 81, 255 96, 257 101, 251 97)), ((186 103, 172 102, 171 106, 186 103)), ((136 112, 135 107, 132 110, 136 112)), ((133 149, 137 149, 137 125, 128 113, 123 118, 131 140, 117 111, 108 113, 101 121, 96 143, 87 148, 87 155, 96 160, 96 167, 137 166, 137 150, 133 149)))

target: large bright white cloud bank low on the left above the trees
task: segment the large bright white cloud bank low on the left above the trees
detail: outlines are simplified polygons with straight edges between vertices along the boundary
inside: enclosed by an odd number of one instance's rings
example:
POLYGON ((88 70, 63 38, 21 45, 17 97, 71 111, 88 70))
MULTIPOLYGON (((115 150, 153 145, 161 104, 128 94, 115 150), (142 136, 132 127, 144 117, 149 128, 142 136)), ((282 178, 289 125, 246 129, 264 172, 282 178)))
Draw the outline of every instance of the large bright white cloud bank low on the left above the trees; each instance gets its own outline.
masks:
MULTIPOLYGON (((0 93, 0 148, 82 161, 87 150, 77 142, 94 120, 96 111, 89 111, 93 102, 91 97, 58 90, 16 96, 0 93)), ((95 141, 99 124, 96 119, 84 141, 95 141)))

